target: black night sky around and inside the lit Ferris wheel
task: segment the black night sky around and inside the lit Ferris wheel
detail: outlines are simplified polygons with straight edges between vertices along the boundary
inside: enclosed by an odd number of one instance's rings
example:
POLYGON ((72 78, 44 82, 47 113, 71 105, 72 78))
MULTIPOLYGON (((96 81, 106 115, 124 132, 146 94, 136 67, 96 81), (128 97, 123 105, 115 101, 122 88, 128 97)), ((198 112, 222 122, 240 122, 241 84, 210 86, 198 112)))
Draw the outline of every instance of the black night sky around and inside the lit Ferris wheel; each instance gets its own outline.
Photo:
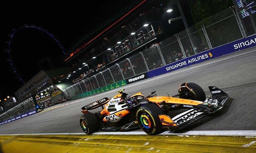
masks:
MULTIPOLYGON (((68 52, 80 38, 136 1, 138 0, 1 1, 0 93, 2 97, 12 96, 22 86, 10 70, 10 62, 6 61, 8 59, 8 54, 5 52, 8 48, 6 42, 10 40, 8 35, 13 33, 13 29, 24 24, 40 26, 54 34, 68 52)), ((24 28, 15 33, 11 55, 16 69, 25 81, 40 71, 38 61, 47 57, 51 58, 53 67, 63 65, 63 54, 58 44, 46 33, 33 28, 24 28)))

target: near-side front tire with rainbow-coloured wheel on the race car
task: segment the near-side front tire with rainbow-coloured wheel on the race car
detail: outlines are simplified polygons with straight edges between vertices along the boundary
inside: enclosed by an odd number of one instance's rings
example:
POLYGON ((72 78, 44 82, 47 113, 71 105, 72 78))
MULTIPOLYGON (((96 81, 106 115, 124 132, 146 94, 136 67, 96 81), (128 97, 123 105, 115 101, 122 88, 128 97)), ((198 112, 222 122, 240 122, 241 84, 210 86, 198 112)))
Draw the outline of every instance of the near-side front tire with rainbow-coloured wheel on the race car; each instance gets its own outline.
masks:
POLYGON ((145 104, 138 109, 136 113, 138 124, 148 135, 157 135, 163 132, 159 114, 164 113, 156 104, 145 104))

